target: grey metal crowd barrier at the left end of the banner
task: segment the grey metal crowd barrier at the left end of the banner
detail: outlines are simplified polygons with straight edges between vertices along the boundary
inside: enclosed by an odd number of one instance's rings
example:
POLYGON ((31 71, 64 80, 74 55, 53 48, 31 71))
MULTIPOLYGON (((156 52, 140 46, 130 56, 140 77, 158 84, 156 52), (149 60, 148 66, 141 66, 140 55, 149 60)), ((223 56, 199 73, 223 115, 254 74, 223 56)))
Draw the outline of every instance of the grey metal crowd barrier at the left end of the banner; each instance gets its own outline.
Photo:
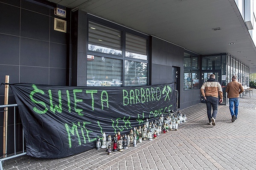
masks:
MULTIPOLYGON (((0 170, 3 170, 3 162, 5 160, 8 160, 8 159, 12 159, 12 158, 16 158, 18 156, 23 156, 23 155, 26 155, 26 152, 24 151, 24 131, 22 132, 22 136, 23 136, 23 150, 22 150, 22 153, 18 153, 16 152, 16 112, 15 112, 15 107, 18 106, 17 104, 10 104, 10 105, 0 105, 0 108, 10 108, 10 107, 14 107, 14 155, 12 156, 8 156, 6 154, 5 158, 1 158, 0 159, 0 170)), ((7 150, 7 147, 8 147, 8 144, 7 144, 7 136, 6 136, 6 150, 7 150)))

